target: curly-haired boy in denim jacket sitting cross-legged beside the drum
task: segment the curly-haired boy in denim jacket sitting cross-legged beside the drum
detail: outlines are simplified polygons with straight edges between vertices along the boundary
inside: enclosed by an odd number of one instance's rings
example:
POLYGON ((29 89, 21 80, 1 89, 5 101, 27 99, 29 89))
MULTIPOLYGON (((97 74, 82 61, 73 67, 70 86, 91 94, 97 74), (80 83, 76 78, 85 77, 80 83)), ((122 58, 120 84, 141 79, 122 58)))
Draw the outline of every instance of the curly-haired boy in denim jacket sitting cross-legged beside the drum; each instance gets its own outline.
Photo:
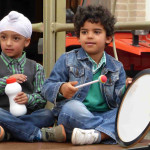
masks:
POLYGON ((55 104, 58 124, 74 145, 116 143, 115 119, 126 74, 104 50, 112 41, 115 18, 103 6, 79 7, 74 26, 81 48, 63 54, 45 81, 42 94, 55 104), (107 77, 105 84, 80 85, 107 77))

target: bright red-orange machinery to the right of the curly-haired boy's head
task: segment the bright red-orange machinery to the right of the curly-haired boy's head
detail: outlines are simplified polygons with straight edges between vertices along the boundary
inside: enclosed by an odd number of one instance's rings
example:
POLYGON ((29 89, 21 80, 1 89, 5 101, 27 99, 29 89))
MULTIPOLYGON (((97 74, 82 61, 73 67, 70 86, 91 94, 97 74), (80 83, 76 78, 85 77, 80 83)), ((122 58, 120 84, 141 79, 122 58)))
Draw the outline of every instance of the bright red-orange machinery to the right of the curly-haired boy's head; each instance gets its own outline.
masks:
MULTIPOLYGON (((150 34, 139 36, 139 45, 132 45, 132 33, 123 32, 115 34, 115 43, 118 59, 125 70, 141 71, 150 68, 150 34)), ((106 48, 107 53, 113 55, 112 43, 106 48)))

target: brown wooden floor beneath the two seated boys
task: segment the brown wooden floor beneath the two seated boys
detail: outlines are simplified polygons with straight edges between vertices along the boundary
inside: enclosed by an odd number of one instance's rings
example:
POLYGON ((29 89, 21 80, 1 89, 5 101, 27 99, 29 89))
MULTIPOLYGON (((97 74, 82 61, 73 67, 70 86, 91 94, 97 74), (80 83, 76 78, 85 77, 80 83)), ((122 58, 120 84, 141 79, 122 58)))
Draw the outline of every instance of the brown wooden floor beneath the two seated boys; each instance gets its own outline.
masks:
MULTIPOLYGON (((128 150, 133 148, 147 147, 150 144, 150 140, 142 140, 131 148, 123 148, 119 145, 85 145, 85 146, 73 146, 71 143, 25 143, 25 142, 1 142, 0 150, 128 150)), ((137 150, 137 149, 136 149, 137 150)), ((147 149, 146 149, 147 150, 147 149)))

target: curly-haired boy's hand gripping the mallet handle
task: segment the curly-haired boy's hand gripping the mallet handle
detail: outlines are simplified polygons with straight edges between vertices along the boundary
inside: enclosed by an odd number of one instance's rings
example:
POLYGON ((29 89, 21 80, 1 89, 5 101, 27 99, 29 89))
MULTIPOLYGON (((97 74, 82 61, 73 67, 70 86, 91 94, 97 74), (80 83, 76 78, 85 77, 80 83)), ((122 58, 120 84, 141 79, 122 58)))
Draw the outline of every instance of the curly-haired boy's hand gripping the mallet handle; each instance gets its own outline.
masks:
POLYGON ((70 99, 78 91, 78 88, 74 87, 76 84, 78 84, 77 81, 64 83, 59 91, 65 98, 70 99))

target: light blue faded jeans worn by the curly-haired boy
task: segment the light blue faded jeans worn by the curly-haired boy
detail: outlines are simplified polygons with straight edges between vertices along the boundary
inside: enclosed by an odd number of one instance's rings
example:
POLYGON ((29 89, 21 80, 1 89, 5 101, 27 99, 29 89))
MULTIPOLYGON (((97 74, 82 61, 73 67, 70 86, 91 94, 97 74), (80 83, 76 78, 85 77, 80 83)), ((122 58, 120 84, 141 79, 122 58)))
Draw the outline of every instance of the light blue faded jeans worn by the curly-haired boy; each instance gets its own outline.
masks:
POLYGON ((64 125, 68 139, 74 128, 95 129, 111 137, 105 143, 116 144, 116 114, 117 108, 107 112, 90 112, 82 102, 71 100, 63 106, 58 124, 64 125))

